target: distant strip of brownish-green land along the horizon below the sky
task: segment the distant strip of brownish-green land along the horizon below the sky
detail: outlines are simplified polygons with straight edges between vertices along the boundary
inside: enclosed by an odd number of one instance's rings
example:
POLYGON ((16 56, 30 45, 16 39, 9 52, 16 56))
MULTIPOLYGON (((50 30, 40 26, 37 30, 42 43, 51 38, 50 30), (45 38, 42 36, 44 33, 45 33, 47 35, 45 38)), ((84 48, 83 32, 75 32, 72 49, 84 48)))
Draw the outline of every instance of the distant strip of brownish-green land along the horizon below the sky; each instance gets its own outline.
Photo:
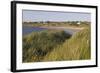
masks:
POLYGON ((87 27, 90 24, 90 22, 82 22, 82 21, 68 21, 68 22, 23 22, 24 26, 35 26, 35 27, 41 27, 41 26, 63 26, 63 27, 87 27), (79 23, 79 24, 78 24, 79 23), (80 25, 81 24, 81 25, 80 25))

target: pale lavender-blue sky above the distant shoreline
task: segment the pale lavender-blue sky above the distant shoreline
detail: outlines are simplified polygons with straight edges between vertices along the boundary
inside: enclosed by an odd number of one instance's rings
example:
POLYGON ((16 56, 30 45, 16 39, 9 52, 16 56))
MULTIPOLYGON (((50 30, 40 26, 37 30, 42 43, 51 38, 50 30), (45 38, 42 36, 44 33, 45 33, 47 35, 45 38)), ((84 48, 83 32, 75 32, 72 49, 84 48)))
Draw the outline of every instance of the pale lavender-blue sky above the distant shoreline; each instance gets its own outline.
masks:
POLYGON ((91 21, 90 13, 23 10, 23 22, 91 21))

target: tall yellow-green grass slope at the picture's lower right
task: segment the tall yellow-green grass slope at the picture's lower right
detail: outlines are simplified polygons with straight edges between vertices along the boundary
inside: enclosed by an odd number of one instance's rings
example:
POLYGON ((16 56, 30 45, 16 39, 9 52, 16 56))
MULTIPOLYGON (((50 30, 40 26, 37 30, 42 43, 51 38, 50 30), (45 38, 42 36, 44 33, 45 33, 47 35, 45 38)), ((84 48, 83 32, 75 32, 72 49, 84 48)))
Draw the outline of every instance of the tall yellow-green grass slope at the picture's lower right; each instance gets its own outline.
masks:
POLYGON ((81 30, 49 52, 43 61, 85 60, 91 58, 90 28, 81 30))

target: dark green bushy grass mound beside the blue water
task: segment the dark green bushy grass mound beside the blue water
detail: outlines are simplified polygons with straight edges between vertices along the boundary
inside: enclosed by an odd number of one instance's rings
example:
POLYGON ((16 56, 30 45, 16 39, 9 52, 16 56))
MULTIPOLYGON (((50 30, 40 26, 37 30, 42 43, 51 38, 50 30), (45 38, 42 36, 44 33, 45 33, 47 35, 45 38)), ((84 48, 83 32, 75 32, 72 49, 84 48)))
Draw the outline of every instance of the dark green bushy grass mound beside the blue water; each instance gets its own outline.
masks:
POLYGON ((39 62, 57 45, 70 38, 64 31, 45 30, 23 36, 23 62, 39 62))

